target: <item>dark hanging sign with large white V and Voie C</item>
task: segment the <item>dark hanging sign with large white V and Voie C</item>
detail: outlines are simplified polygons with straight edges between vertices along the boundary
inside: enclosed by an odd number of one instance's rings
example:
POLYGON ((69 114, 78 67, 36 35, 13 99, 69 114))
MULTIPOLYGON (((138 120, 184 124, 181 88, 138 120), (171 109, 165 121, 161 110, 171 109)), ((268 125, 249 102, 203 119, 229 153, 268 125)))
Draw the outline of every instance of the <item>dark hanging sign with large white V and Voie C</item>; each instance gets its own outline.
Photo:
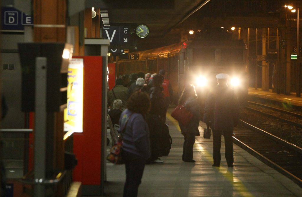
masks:
POLYGON ((103 37, 108 38, 111 44, 129 45, 130 43, 130 33, 128 27, 103 27, 102 35, 103 37))

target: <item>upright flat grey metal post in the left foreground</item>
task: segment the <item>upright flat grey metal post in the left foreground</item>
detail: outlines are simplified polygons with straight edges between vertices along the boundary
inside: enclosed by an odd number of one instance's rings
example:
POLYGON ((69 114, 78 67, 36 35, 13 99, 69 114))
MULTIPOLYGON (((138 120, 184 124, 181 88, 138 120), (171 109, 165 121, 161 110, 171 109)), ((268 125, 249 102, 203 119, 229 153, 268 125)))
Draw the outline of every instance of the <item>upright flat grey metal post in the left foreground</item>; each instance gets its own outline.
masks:
POLYGON ((36 57, 35 129, 34 129, 34 196, 45 196, 46 167, 46 80, 47 58, 36 57))

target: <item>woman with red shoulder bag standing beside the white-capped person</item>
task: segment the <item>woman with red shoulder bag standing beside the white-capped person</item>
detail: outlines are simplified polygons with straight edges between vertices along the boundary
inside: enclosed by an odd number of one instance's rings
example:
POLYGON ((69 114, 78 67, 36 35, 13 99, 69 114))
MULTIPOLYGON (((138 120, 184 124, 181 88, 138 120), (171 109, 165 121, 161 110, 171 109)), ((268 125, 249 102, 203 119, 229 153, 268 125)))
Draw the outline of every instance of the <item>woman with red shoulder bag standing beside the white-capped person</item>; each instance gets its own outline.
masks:
POLYGON ((178 101, 179 105, 185 106, 185 108, 193 113, 193 118, 188 125, 183 125, 178 122, 182 135, 184 136, 184 145, 182 160, 184 162, 195 162, 193 160, 193 145, 195 143, 195 136, 199 135, 199 120, 200 120, 200 106, 197 102, 197 96, 194 86, 187 86, 178 101))

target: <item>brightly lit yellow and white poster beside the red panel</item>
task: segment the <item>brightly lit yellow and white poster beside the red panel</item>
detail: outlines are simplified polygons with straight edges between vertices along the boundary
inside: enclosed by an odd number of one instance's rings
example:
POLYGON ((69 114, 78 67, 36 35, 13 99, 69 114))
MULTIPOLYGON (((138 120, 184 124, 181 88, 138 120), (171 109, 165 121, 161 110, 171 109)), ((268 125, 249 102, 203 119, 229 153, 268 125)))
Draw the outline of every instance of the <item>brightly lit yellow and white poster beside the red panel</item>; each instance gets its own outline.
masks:
POLYGON ((69 135, 73 132, 83 132, 83 67, 83 59, 78 58, 72 58, 68 66, 64 131, 68 131, 69 135))

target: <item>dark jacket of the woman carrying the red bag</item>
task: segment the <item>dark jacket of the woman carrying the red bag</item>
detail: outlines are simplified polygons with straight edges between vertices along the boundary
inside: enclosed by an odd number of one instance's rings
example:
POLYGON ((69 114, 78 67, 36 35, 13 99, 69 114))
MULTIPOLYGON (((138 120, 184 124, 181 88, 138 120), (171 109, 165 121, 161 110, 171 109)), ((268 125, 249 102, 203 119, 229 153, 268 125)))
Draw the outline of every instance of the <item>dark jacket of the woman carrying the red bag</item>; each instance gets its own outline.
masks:
POLYGON ((182 134, 184 133, 193 133, 195 135, 199 135, 198 126, 199 126, 199 120, 200 120, 200 107, 198 105, 197 99, 194 97, 189 97, 185 103, 184 106, 187 110, 189 110, 191 113, 193 113, 193 118, 190 121, 188 126, 184 126, 182 123, 178 123, 180 130, 182 131, 182 134))

